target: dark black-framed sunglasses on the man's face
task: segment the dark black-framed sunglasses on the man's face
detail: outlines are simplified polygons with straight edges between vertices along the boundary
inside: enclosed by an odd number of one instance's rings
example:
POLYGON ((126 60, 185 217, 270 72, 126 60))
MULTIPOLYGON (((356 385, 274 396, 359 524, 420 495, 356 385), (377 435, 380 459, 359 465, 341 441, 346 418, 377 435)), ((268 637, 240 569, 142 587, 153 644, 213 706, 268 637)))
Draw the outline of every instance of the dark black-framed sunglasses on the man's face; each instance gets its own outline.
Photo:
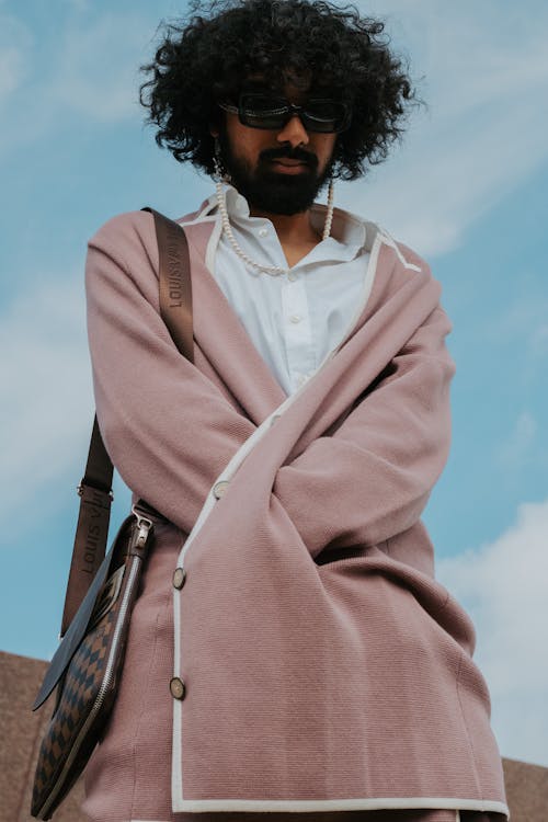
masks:
POLYGON ((244 92, 238 106, 219 103, 219 106, 238 114, 240 123, 251 128, 281 129, 296 114, 307 132, 332 134, 344 132, 350 126, 351 110, 339 100, 309 100, 305 105, 294 105, 284 98, 244 92))

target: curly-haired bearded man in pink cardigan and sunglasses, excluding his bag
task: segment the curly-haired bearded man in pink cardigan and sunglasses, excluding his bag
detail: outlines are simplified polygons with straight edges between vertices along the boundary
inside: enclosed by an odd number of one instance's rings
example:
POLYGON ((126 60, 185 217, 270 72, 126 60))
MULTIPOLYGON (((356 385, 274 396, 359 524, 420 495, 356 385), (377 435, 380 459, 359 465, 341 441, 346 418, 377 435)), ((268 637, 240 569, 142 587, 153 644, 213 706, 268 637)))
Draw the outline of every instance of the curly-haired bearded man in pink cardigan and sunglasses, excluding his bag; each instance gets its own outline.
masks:
POLYGON ((400 134, 410 82, 353 10, 218 9, 169 28, 141 95, 159 145, 216 179, 179 220, 193 363, 159 316, 150 215, 89 243, 99 423, 164 518, 83 810, 502 822, 473 626, 420 520, 450 322, 418 254, 333 207, 400 134))

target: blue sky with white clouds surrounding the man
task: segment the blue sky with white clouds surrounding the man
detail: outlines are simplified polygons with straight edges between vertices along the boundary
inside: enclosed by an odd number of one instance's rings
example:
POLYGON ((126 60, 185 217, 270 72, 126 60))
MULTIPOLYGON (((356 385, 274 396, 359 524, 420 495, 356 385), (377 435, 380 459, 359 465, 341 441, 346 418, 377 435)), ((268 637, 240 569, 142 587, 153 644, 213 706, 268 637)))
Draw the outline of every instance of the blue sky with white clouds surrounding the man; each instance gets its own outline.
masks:
MULTIPOLYGON (((429 109, 335 204, 430 261, 453 320, 453 446, 424 522, 472 617, 505 756, 548 765, 548 7, 372 0, 429 109), (421 79, 422 78, 422 79, 421 79)), ((179 217, 209 180, 142 125, 159 0, 0 0, 0 649, 57 646, 93 419, 88 238, 119 212, 179 217)), ((128 492, 115 482, 113 527, 128 492)))

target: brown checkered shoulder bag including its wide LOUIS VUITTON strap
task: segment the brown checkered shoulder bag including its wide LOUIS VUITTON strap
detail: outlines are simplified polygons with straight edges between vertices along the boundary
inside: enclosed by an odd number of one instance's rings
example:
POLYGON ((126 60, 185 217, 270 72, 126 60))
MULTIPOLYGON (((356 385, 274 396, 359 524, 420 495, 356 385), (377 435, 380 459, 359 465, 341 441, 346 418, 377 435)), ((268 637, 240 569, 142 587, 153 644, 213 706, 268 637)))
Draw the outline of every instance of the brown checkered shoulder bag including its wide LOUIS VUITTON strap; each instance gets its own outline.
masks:
MULTIPOLYGON (((159 248, 160 313, 183 356, 193 362, 189 247, 181 226, 151 208, 159 248), (169 266, 169 267, 168 267, 169 266), (176 286, 176 287, 175 287, 176 286), (179 299, 173 299, 176 292, 179 299)), ((100 741, 112 712, 124 663, 129 620, 147 556, 153 547, 152 506, 138 500, 105 555, 113 465, 96 415, 65 598, 62 639, 33 705, 57 688, 42 740, 31 814, 52 818, 100 741)))

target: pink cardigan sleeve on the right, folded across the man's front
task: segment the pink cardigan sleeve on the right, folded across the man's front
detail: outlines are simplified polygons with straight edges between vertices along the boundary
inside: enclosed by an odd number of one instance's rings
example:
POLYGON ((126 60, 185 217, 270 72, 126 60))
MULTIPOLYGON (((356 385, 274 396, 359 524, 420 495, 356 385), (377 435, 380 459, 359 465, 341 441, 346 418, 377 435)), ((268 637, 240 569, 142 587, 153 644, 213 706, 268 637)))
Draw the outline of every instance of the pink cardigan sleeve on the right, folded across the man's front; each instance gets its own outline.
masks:
POLYGON ((312 557, 378 545, 419 520, 449 453, 450 329, 437 305, 335 433, 278 469, 273 493, 312 557))

